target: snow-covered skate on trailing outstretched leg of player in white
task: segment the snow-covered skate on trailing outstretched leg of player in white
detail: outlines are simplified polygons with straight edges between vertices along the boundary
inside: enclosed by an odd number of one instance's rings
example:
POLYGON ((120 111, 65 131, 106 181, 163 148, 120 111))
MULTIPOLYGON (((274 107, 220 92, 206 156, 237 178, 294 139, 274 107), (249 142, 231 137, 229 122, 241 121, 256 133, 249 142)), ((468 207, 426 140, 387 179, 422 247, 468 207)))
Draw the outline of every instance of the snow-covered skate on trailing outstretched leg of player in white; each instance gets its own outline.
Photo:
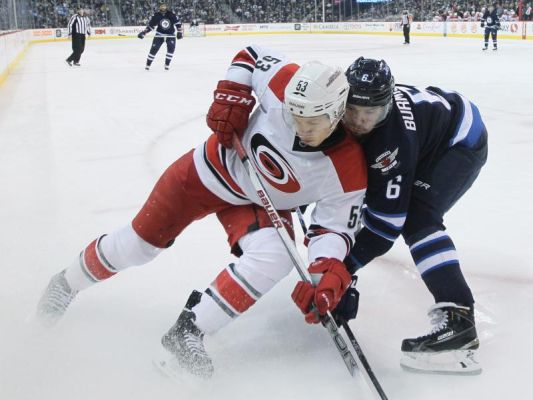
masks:
POLYGON ((37 319, 46 327, 55 325, 77 294, 65 279, 65 271, 54 275, 37 305, 37 319))

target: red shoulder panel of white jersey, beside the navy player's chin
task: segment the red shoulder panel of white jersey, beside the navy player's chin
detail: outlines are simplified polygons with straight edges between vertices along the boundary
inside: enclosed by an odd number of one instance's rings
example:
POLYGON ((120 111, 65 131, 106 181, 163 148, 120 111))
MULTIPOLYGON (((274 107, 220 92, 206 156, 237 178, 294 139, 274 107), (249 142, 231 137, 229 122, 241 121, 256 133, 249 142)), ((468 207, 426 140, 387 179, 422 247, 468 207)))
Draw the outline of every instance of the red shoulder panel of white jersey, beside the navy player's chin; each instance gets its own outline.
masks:
POLYGON ((367 172, 363 148, 357 141, 346 134, 338 145, 324 151, 335 167, 344 192, 366 189, 367 172))

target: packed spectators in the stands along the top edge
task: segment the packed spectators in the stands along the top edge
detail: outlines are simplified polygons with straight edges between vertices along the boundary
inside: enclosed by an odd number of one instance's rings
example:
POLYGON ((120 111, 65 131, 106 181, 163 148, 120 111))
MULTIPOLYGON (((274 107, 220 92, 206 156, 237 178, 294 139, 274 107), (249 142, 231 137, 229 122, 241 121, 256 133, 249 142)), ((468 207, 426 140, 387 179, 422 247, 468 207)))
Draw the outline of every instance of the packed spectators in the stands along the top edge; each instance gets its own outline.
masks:
MULTIPOLYGON (((170 0, 170 8, 183 22, 206 24, 322 21, 322 1, 315 0, 170 0), (315 5, 317 8, 315 9, 315 5)), ((497 2, 503 21, 516 21, 519 1, 497 2)), ((30 28, 65 27, 79 6, 87 10, 92 26, 146 25, 157 9, 156 0, 27 0, 30 28), (112 9, 116 18, 112 20, 112 9)), ((415 21, 479 21, 489 2, 469 0, 390 0, 381 3, 325 1, 325 20, 399 20, 408 9, 415 21)), ((524 1, 524 20, 532 20, 532 1, 524 1)))

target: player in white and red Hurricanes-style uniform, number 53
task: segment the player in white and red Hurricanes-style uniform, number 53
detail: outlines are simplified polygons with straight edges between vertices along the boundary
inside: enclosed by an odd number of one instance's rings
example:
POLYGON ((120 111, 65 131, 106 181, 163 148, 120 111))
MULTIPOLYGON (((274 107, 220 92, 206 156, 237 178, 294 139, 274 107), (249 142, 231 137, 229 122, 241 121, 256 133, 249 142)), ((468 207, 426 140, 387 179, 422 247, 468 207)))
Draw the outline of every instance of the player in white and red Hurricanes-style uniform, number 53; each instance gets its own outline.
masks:
POLYGON ((258 46, 240 51, 214 91, 207 114, 214 133, 163 173, 130 224, 91 242, 52 277, 38 304, 40 320, 54 324, 80 290, 151 261, 191 222, 216 213, 239 259, 205 290, 191 293, 162 338, 175 365, 210 377, 214 368, 204 335, 248 310, 293 267, 232 149, 235 134, 291 235, 290 210, 316 204, 306 238, 310 272, 322 276, 318 311, 333 310, 351 282, 342 260, 353 244, 367 184, 361 147, 335 130, 348 89, 340 68, 319 62, 299 67, 258 46), (252 92, 259 106, 249 119, 256 103, 252 92))

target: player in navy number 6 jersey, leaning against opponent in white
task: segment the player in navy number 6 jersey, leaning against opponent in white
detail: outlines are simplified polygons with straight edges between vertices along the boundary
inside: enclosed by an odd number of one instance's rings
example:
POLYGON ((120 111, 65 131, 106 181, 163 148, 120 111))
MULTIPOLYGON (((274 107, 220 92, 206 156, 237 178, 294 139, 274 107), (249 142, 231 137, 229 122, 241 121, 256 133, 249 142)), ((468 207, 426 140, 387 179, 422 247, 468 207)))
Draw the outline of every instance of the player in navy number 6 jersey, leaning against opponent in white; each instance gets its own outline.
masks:
MULTIPOLYGON (((402 342, 407 369, 481 371, 474 298, 459 266, 444 214, 470 188, 487 159, 478 108, 456 92, 395 85, 385 61, 358 58, 347 70, 343 126, 362 144, 368 190, 363 227, 345 260, 352 273, 386 253, 402 235, 435 299, 428 335, 402 342)), ((355 288, 333 315, 354 318, 355 288)))

